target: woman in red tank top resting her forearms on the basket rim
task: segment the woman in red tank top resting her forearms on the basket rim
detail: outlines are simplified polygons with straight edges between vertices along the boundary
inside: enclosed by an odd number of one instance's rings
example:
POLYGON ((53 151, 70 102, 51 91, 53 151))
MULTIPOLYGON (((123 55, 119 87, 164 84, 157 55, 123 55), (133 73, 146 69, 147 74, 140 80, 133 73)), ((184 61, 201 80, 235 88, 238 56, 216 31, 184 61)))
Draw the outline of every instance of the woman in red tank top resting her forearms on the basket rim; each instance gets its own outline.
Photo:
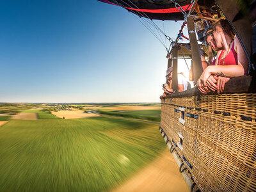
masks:
POLYGON ((243 76, 248 73, 248 60, 238 38, 234 38, 234 33, 227 20, 221 19, 216 22, 212 36, 216 47, 220 49, 216 62, 205 68, 198 79, 198 89, 202 93, 209 90, 218 93, 223 92, 225 83, 232 77, 243 76), (218 77, 217 82, 212 81, 218 77))

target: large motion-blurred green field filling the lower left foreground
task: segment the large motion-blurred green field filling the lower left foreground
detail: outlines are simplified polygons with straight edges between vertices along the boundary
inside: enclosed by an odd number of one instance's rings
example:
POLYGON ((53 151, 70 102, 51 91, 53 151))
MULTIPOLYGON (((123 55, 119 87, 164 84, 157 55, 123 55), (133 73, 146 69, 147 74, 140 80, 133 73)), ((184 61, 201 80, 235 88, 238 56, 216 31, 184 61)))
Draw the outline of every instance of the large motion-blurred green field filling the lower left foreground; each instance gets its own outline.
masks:
POLYGON ((116 118, 11 120, 0 191, 108 191, 165 147, 158 125, 116 118))

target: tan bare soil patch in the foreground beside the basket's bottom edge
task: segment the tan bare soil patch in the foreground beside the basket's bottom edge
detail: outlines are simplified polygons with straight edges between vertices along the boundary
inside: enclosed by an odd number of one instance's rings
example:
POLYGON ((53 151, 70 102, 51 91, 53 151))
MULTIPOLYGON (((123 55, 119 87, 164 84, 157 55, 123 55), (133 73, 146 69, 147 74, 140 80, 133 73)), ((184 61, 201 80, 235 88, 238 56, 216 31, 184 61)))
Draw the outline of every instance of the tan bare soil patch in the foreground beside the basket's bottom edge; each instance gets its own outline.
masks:
POLYGON ((179 167, 172 154, 168 150, 168 147, 166 147, 163 154, 157 157, 155 161, 113 191, 189 192, 189 188, 182 174, 179 172, 179 167))

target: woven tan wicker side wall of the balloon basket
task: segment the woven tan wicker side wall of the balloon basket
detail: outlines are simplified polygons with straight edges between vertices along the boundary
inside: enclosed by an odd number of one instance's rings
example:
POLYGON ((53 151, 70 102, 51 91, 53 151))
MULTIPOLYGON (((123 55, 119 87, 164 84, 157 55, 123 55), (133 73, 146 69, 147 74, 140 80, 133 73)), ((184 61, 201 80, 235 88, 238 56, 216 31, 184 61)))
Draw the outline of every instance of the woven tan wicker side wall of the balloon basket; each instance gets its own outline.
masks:
POLYGON ((201 191, 256 191, 256 94, 161 99, 161 128, 201 191))

